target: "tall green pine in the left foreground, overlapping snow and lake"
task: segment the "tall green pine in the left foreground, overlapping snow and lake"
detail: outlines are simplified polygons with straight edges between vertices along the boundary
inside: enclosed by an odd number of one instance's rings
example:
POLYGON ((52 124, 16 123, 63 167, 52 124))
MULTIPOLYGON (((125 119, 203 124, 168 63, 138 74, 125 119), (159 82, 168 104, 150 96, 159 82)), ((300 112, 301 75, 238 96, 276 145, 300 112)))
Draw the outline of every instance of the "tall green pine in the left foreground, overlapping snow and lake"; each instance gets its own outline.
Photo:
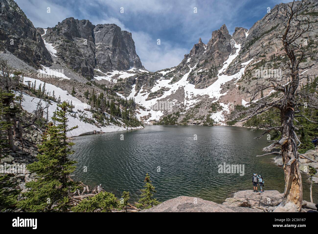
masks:
POLYGON ((76 183, 68 176, 75 170, 74 163, 68 159, 73 154, 72 142, 67 142, 67 132, 77 128, 68 128, 68 105, 64 101, 58 105, 52 122, 48 124, 38 146, 38 161, 27 166, 31 173, 37 174, 37 181, 26 183, 31 190, 24 193, 26 197, 18 203, 25 211, 67 211, 70 208, 69 194, 76 189, 76 183))

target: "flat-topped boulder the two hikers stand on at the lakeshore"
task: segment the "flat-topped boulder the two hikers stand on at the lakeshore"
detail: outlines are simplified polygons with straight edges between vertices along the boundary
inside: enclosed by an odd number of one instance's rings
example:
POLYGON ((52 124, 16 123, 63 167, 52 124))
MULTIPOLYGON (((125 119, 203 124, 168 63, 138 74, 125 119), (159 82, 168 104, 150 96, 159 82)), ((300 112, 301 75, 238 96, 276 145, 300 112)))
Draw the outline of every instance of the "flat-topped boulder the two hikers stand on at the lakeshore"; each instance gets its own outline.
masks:
POLYGON ((263 193, 254 193, 253 190, 243 190, 234 193, 233 197, 226 198, 223 205, 255 207, 277 206, 280 204, 283 194, 277 190, 266 190, 263 193))

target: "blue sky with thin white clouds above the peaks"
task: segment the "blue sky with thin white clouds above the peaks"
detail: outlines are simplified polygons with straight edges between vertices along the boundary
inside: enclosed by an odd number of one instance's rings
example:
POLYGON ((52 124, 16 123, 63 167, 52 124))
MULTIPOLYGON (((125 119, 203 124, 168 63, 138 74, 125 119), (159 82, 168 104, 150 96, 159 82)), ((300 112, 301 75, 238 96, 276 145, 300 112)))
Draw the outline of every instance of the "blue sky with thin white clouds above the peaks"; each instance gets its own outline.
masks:
POLYGON ((53 27, 67 17, 117 24, 132 33, 136 52, 149 71, 178 65, 199 38, 226 24, 250 29, 267 7, 291 0, 15 0, 35 27, 53 27), (47 7, 51 13, 47 13, 47 7), (124 12, 121 13, 121 7, 124 12), (197 13, 194 13, 194 7, 197 13), (160 39, 161 45, 157 45, 160 39))

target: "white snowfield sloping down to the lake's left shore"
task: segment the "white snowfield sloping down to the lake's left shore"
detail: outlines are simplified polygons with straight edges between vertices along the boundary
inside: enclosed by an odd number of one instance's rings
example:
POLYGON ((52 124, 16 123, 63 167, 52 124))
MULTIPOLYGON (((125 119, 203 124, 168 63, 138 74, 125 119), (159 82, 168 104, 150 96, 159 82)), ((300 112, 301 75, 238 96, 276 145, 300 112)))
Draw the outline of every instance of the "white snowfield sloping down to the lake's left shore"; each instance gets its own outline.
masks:
MULTIPOLYGON (((41 81, 41 80, 33 79, 33 78, 29 78, 29 77, 24 77, 24 84, 27 85, 28 84, 27 81, 31 81, 31 82, 35 82, 36 81, 37 87, 38 87, 39 84, 41 84, 42 87, 44 85, 44 82, 41 81)), ((90 105, 87 105, 86 103, 81 102, 77 98, 75 98, 72 95, 70 95, 69 93, 67 93, 66 90, 63 90, 63 89, 61 89, 61 88, 59 88, 57 86, 54 86, 52 84, 45 83, 45 88, 46 88, 46 91, 51 93, 51 96, 52 96, 53 90, 54 90, 55 97, 57 99, 60 97, 61 101, 70 101, 70 102, 72 101, 72 104, 74 106, 74 108, 73 108, 74 112, 77 112, 77 110, 81 110, 81 111, 84 111, 84 113, 87 114, 88 118, 92 118, 93 114, 90 111, 85 111, 84 110, 86 108, 90 108, 90 105)), ((26 110, 27 112, 32 113, 33 111, 35 111, 39 101, 41 101, 42 106, 45 107, 45 101, 40 100, 39 98, 36 98, 36 97, 31 97, 31 96, 29 96, 26 93, 23 93, 23 99, 24 100, 22 101, 22 108, 24 110, 26 110)), ((51 101, 51 104, 52 105, 50 105, 49 109, 48 109, 48 112, 49 112, 48 115, 49 115, 49 119, 50 120, 51 120, 51 118, 53 116, 53 112, 56 110, 56 107, 57 107, 57 103, 56 102, 52 102, 51 101)), ((76 114, 76 116, 78 116, 78 113, 76 114)), ((44 114, 43 117, 46 117, 46 113, 44 114)), ((119 126, 116 126, 116 125, 109 125, 109 126, 106 126, 106 127, 97 127, 97 126, 95 126, 93 124, 85 123, 85 122, 79 120, 79 118, 74 118, 74 117, 72 117, 70 115, 68 115, 68 120, 69 120, 68 121, 69 127, 74 127, 76 125, 78 126, 78 128, 76 128, 76 129, 74 129, 74 130, 72 130, 72 131, 67 133, 68 137, 78 136, 78 135, 83 134, 83 133, 93 132, 94 130, 95 131, 104 132, 104 133, 108 133, 108 132, 117 132, 117 131, 125 131, 125 130, 142 128, 140 126, 140 127, 135 127, 135 128, 129 127, 127 129, 127 128, 119 127, 119 126)))

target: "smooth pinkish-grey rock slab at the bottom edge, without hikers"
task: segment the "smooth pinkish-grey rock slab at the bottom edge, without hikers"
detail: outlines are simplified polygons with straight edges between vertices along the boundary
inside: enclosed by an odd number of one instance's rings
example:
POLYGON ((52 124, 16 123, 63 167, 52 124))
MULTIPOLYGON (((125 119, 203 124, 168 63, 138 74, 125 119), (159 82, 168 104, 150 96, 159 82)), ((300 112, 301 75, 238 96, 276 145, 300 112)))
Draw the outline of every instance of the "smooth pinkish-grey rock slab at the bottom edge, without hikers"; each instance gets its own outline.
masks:
POLYGON ((198 197, 178 196, 140 212, 261 212, 257 209, 227 206, 198 197))

